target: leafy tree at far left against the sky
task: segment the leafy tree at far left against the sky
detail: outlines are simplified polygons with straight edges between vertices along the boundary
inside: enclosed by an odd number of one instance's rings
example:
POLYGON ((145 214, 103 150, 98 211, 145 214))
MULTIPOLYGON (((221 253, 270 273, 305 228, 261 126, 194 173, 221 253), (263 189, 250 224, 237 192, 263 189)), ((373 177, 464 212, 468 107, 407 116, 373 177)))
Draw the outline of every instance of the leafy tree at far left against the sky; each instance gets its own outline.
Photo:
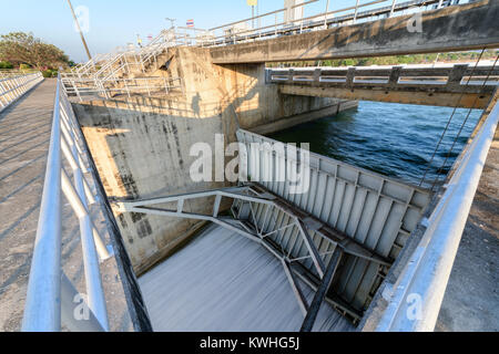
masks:
POLYGON ((38 70, 65 66, 69 62, 62 50, 24 32, 0 35, 0 60, 14 65, 29 64, 38 70))

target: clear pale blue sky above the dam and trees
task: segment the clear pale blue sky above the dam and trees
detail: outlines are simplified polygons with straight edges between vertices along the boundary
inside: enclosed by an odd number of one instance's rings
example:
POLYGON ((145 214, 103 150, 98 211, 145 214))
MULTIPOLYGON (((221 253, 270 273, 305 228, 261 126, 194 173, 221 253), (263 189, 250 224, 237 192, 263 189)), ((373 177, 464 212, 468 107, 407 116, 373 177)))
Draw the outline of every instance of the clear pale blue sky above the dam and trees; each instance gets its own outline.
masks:
MULTIPOLYGON (((361 0, 360 2, 367 2, 361 0)), ((90 11, 90 31, 85 33, 92 54, 105 53, 119 45, 144 42, 149 34, 169 28, 165 18, 185 25, 194 19, 196 28, 208 29, 251 17, 246 0, 72 0, 73 7, 90 11)), ((330 0, 330 9, 355 4, 355 0, 330 0)), ((283 8, 284 0, 259 0, 259 13, 283 8)), ((326 0, 307 6, 305 15, 325 10, 326 0)), ((0 0, 0 34, 13 31, 33 32, 43 41, 64 50, 77 62, 85 54, 67 0, 0 0)))

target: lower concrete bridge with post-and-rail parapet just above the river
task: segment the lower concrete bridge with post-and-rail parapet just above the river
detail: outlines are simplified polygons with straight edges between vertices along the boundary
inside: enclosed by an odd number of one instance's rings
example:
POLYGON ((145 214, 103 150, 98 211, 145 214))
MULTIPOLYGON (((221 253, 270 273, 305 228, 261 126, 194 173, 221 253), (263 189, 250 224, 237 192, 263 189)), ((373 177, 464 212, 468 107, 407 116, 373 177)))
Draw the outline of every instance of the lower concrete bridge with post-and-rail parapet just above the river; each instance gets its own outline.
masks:
POLYGON ((269 69, 267 82, 279 93, 301 96, 337 97, 485 108, 498 83, 495 66, 458 64, 451 67, 348 67, 269 69))

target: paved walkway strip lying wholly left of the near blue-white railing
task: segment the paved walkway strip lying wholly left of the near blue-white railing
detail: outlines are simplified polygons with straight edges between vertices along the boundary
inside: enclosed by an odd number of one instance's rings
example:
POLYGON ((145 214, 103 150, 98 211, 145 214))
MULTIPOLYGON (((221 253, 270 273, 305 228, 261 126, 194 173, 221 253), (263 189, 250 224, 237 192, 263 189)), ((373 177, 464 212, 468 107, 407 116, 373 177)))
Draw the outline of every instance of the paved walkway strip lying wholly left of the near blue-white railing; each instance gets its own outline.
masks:
POLYGON ((55 83, 45 80, 0 114, 0 332, 22 319, 55 83))

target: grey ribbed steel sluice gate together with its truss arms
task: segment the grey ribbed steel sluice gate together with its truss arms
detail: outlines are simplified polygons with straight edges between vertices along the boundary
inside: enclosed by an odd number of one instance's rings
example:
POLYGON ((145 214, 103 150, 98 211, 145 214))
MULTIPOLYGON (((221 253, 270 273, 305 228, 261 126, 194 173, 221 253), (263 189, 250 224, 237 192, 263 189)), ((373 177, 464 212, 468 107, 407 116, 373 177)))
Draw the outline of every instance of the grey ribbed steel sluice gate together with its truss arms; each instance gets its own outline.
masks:
MULTIPOLYGON (((282 143, 247 131, 238 129, 237 138, 247 152, 240 156, 240 167, 244 166, 240 179, 245 179, 241 178, 245 170, 248 181, 237 187, 126 201, 120 204, 122 211, 212 221, 261 244, 282 264, 289 282, 287 291, 295 294, 303 313, 301 327, 294 330, 312 331, 323 302, 357 324, 421 219, 429 191, 317 154, 309 153, 307 162, 296 159, 303 156, 302 149, 296 149, 296 155, 292 149, 279 154, 274 147, 282 143), (304 171, 307 188, 293 190, 289 165, 304 171), (204 198, 211 198, 212 214, 184 210, 187 201, 204 198), (232 200, 230 217, 220 212, 223 199, 232 200)), ((183 252, 176 257, 182 258, 183 252)), ((185 252, 185 257, 192 253, 185 252)), ((161 266, 166 272, 167 264, 161 266)), ((262 277, 259 271, 246 272, 247 282, 262 277)), ((258 287, 253 289, 257 291, 258 287)), ((203 303, 205 292, 197 290, 195 301, 203 303)))

